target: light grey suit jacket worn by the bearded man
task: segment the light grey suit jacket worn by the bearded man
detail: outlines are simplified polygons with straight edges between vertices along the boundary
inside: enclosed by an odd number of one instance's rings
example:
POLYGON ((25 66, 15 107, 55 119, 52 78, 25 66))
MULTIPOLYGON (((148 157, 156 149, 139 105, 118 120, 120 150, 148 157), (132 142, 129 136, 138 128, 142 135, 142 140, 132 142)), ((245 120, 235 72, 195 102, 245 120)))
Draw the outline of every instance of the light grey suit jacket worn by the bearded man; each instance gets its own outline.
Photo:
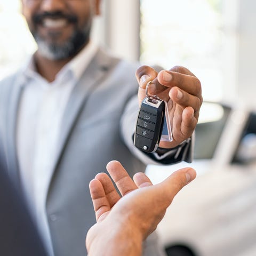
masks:
MULTIPOLYGON (((85 236, 95 223, 88 185, 95 174, 105 171, 113 159, 120 161, 131 176, 145 171, 146 163, 155 162, 154 156, 142 153, 132 142, 138 112, 137 67, 99 50, 71 93, 46 201, 56 256, 86 255, 85 236)), ((17 186, 15 128, 22 93, 19 79, 20 71, 0 84, 0 136, 17 186)), ((189 152, 175 161, 189 160, 189 152)), ((148 245, 146 254, 158 255, 157 247, 148 245)))

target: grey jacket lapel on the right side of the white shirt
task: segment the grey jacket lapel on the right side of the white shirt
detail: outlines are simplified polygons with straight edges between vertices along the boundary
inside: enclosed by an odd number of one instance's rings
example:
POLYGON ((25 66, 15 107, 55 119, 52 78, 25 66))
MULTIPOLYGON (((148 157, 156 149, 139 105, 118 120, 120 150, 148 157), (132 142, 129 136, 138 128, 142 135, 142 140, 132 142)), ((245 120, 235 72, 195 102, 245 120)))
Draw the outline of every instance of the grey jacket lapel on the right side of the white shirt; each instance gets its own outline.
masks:
POLYGON ((81 79, 74 87, 62 118, 57 154, 55 155, 52 175, 58 166, 63 150, 65 150, 69 136, 77 119, 79 118, 79 114, 85 105, 85 102, 90 97, 91 92, 98 84, 100 84, 102 78, 107 74, 110 67, 109 62, 109 57, 98 50, 90 65, 84 71, 81 79))

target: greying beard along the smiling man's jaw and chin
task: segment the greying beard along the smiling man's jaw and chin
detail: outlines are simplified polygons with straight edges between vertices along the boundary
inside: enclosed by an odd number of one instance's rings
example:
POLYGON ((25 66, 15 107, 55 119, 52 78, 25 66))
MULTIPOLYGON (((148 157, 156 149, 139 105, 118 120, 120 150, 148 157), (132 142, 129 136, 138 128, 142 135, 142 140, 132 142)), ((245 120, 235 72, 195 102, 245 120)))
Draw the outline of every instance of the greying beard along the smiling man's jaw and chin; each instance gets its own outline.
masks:
POLYGON ((37 33, 34 33, 34 38, 38 46, 38 52, 43 57, 50 60, 63 60, 76 55, 89 41, 90 29, 86 31, 75 30, 74 34, 62 43, 46 42, 37 33))

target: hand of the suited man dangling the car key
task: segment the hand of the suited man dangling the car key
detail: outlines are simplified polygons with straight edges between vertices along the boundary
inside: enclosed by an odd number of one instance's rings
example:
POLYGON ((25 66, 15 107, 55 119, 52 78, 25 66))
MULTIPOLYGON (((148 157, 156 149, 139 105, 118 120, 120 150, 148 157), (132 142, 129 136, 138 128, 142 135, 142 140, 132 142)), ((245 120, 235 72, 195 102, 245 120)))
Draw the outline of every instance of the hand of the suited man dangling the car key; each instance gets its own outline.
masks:
POLYGON ((188 139, 195 130, 199 109, 202 105, 201 83, 185 67, 173 67, 159 73, 149 66, 141 66, 136 72, 139 83, 138 98, 141 103, 146 97, 146 85, 149 95, 156 95, 167 102, 172 127, 173 141, 161 141, 159 147, 173 148, 188 139))

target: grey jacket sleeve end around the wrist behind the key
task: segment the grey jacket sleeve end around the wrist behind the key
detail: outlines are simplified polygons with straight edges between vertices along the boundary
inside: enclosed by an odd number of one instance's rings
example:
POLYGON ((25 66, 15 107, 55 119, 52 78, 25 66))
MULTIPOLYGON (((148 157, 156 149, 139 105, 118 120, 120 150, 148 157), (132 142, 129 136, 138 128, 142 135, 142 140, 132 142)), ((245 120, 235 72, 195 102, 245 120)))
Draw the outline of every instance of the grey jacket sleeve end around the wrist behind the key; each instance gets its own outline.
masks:
POLYGON ((181 161, 191 163, 193 160, 195 136, 183 141, 179 146, 166 150, 158 149, 155 153, 145 153, 133 144, 136 119, 139 111, 137 95, 127 103, 121 118, 121 134, 126 146, 145 164, 176 164, 181 161))

